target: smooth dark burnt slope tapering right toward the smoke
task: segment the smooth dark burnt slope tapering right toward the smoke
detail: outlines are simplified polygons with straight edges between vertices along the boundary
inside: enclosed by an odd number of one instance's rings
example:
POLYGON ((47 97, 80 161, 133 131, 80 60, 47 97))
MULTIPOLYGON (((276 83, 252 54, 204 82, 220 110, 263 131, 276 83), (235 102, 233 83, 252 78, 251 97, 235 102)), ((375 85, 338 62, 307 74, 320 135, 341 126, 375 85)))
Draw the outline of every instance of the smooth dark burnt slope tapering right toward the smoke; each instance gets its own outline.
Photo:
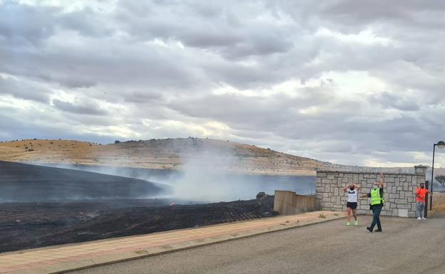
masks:
POLYGON ((170 191, 141 179, 0 161, 0 202, 135 199, 170 191))

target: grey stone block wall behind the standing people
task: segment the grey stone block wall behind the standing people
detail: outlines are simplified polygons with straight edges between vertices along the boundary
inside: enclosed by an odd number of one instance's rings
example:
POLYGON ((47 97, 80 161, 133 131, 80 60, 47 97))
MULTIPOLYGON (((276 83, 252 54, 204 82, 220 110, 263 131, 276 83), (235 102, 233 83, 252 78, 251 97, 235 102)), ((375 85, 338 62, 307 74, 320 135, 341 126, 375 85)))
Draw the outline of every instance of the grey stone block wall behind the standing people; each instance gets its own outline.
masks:
MULTIPOLYGON (((426 167, 414 167, 415 173, 384 173, 384 199, 382 216, 416 216, 415 191, 425 182, 426 167)), ((360 198, 369 193, 374 181, 380 181, 377 172, 317 171, 316 203, 319 210, 346 211, 347 194, 344 186, 358 184, 361 189, 358 199, 358 214, 369 214, 369 198, 360 198)))

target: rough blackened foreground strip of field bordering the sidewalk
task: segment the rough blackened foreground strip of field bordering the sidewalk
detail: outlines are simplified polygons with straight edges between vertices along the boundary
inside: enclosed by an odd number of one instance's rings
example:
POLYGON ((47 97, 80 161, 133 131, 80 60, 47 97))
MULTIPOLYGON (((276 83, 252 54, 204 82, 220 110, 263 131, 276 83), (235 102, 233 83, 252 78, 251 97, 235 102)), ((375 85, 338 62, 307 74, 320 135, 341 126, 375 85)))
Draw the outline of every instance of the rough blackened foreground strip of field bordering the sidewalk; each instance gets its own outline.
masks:
POLYGON ((273 196, 174 205, 168 199, 0 204, 0 252, 272 216, 273 196), (155 206, 156 203, 156 206, 155 206))

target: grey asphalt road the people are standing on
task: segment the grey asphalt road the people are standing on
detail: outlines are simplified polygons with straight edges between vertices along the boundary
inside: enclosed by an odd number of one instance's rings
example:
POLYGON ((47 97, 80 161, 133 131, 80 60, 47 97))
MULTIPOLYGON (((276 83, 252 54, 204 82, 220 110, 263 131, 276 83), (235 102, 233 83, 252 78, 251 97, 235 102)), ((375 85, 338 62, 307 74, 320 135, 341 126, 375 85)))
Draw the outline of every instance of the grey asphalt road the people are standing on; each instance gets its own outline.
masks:
POLYGON ((108 273, 445 273, 445 218, 382 218, 382 233, 343 220, 76 271, 108 273))

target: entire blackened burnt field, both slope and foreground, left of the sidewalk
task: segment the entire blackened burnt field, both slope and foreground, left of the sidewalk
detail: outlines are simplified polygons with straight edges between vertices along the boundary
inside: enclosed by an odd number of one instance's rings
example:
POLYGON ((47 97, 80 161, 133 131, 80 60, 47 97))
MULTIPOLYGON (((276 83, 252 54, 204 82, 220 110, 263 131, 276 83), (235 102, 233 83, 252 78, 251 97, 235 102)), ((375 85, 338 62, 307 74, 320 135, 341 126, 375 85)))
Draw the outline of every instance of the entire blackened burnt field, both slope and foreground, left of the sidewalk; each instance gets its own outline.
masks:
POLYGON ((0 252, 274 214, 273 196, 199 204, 167 198, 171 193, 168 185, 142 179, 0 162, 0 252))

